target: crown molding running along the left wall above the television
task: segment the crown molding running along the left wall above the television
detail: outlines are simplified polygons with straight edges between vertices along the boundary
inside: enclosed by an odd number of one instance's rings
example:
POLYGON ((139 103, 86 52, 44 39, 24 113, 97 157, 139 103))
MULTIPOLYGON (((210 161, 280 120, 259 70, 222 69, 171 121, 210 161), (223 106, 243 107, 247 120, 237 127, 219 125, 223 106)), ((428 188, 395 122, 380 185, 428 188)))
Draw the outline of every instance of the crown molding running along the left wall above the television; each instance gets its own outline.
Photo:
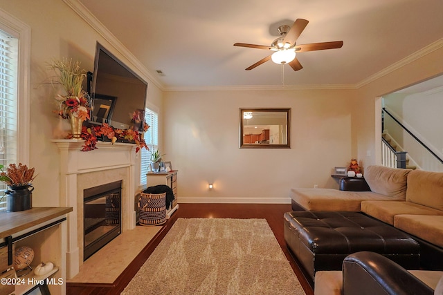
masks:
POLYGON ((99 21, 84 5, 78 0, 63 0, 67 6, 69 6, 75 13, 77 13, 84 21, 86 21, 91 28, 98 32, 98 35, 103 37, 106 41, 113 46, 120 55, 131 62, 132 65, 141 73, 141 75, 147 77, 152 83, 159 87, 162 91, 165 87, 152 73, 150 73, 145 66, 117 39, 114 34, 109 31, 101 21, 99 21))

